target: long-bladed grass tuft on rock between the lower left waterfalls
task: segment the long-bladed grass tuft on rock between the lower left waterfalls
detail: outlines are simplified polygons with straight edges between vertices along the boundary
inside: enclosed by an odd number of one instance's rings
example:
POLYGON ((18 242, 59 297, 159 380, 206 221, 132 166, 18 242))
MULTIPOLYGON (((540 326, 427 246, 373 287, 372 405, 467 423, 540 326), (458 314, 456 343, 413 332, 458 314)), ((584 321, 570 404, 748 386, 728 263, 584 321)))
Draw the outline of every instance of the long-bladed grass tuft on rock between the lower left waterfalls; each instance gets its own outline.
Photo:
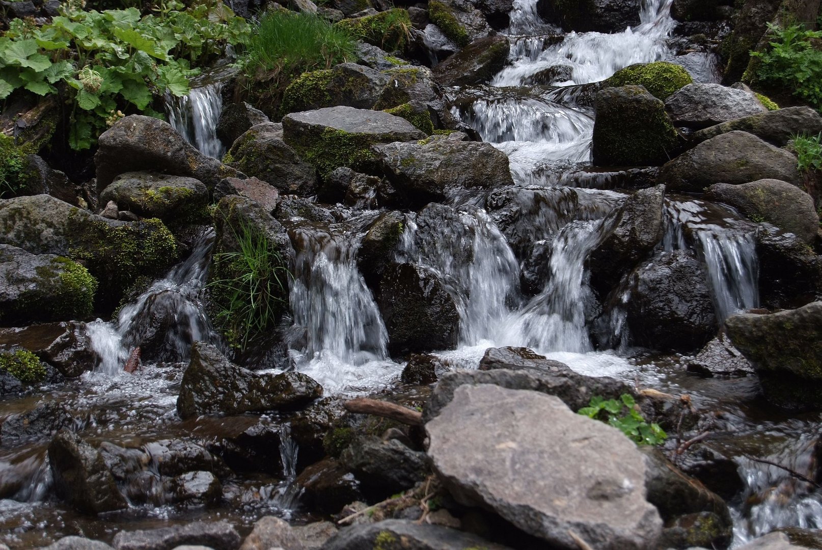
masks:
POLYGON ((215 279, 208 286, 217 305, 216 323, 229 344, 242 351, 286 307, 291 274, 261 230, 241 224, 233 235, 239 250, 215 255, 215 279))

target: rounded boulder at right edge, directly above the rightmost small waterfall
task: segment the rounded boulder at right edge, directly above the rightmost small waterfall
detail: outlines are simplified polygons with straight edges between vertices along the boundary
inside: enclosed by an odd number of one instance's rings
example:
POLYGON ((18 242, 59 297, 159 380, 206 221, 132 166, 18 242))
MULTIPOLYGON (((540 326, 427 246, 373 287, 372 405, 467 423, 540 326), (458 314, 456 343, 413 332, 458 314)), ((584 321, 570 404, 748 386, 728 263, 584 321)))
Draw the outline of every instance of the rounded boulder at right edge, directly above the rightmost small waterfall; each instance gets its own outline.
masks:
POLYGON ((750 220, 766 221, 812 245, 820 226, 814 200, 799 187, 778 179, 729 185, 715 183, 705 198, 733 206, 750 220))

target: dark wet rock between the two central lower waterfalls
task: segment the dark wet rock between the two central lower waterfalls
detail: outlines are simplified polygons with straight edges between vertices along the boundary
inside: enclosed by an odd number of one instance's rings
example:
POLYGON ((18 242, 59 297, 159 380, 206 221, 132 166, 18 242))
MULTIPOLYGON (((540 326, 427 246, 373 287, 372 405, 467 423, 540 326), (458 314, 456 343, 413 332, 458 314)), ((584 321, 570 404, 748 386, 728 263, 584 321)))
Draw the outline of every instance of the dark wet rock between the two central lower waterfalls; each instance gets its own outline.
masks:
POLYGON ((386 267, 378 305, 390 354, 455 349, 459 313, 455 299, 432 270, 412 264, 386 267))

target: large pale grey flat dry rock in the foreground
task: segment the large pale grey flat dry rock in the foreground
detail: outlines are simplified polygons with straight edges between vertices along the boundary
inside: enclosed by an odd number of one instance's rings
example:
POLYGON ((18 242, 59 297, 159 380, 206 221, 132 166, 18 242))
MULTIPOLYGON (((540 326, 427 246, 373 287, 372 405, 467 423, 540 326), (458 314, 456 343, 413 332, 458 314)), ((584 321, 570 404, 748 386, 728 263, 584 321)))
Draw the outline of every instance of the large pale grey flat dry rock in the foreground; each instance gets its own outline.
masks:
POLYGON ((645 500, 643 455, 621 432, 556 397, 460 386, 426 424, 428 455, 451 494, 556 548, 653 548, 662 528, 645 500))

